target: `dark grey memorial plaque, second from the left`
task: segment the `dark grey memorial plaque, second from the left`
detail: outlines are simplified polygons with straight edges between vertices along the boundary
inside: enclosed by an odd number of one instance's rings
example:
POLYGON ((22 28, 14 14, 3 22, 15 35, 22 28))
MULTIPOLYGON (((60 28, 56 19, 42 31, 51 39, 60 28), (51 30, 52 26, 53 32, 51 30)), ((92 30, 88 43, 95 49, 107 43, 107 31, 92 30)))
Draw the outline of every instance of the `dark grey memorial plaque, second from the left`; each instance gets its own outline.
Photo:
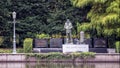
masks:
POLYGON ((50 48, 62 48, 62 39, 61 38, 50 39, 50 48))

